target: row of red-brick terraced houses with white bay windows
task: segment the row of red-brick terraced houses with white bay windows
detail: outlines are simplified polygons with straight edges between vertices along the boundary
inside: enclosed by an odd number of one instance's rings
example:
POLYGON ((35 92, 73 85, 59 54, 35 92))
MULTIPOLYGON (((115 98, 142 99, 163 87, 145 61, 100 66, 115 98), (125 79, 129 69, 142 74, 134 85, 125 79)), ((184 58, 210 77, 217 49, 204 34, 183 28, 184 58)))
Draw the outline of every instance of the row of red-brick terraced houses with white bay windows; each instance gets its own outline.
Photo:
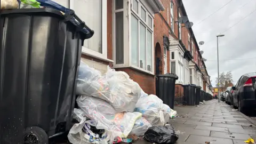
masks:
POLYGON ((182 84, 210 85, 193 30, 178 23, 178 17, 186 15, 181 1, 55 1, 75 10, 95 31, 84 42, 82 60, 101 73, 107 66, 125 71, 149 94, 156 93, 158 74, 179 76, 177 97, 182 95, 182 84))

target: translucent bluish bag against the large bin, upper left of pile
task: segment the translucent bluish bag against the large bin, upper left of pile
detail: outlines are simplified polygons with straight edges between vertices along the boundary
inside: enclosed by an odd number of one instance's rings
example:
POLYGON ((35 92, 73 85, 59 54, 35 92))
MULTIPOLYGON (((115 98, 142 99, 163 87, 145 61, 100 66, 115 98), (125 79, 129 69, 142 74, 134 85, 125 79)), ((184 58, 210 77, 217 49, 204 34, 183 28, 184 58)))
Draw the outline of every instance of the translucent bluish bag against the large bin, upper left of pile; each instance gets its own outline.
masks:
POLYGON ((80 61, 78 71, 76 94, 113 102, 107 79, 101 76, 100 71, 87 66, 82 61, 80 61))

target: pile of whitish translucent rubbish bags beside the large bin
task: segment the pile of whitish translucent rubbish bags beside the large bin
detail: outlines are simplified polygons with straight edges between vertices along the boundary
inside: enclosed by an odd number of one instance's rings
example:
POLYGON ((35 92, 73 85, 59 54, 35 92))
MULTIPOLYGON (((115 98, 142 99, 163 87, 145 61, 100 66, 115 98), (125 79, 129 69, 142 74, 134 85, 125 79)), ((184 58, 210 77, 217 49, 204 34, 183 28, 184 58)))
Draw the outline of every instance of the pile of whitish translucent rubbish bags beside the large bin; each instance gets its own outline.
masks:
POLYGON ((71 128, 71 143, 118 143, 129 135, 144 135, 152 126, 163 126, 177 112, 156 95, 143 92, 123 71, 108 67, 107 73, 81 61, 74 110, 77 123, 71 128))

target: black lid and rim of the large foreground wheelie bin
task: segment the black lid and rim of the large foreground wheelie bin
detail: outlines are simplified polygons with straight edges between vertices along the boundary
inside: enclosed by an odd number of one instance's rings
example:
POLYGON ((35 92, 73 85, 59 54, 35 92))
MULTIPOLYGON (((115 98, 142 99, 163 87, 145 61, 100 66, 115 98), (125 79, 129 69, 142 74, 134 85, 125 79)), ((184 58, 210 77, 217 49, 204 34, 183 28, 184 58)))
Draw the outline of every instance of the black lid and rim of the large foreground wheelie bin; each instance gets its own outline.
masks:
MULTIPOLYGON (((93 36, 94 31, 85 25, 81 19, 77 17, 74 11, 70 11, 69 13, 63 13, 61 11, 52 9, 52 8, 37 8, 37 9, 11 9, 11 10, 1 10, 1 17, 7 14, 31 14, 34 15, 47 15, 49 17, 58 17, 63 21, 70 21, 74 26, 76 26, 75 31, 79 31, 81 33, 81 38, 89 39, 93 36), (3 15, 3 16, 2 16, 3 15)), ((17 23, 17 27, 19 23, 17 23)))

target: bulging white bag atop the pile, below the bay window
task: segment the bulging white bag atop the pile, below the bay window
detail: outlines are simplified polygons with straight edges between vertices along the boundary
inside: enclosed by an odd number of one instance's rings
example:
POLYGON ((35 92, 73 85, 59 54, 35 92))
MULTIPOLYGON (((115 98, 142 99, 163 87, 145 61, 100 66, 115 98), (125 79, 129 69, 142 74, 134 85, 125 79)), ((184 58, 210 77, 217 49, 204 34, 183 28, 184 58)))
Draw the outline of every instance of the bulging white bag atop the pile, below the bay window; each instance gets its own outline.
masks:
POLYGON ((109 67, 105 76, 113 97, 111 105, 118 113, 132 112, 141 95, 139 84, 132 81, 124 71, 115 71, 109 67))

